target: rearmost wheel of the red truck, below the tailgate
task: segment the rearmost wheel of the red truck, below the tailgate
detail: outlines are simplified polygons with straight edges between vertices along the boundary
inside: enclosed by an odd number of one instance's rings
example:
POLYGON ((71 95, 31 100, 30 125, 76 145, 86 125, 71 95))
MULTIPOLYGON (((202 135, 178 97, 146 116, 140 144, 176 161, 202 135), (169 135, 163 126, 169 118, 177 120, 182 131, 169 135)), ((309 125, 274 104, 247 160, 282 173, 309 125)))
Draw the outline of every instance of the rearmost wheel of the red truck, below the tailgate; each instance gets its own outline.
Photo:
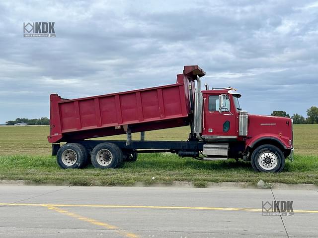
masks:
POLYGON ((88 153, 84 146, 78 143, 63 145, 56 155, 58 165, 62 169, 79 169, 87 164, 88 153))

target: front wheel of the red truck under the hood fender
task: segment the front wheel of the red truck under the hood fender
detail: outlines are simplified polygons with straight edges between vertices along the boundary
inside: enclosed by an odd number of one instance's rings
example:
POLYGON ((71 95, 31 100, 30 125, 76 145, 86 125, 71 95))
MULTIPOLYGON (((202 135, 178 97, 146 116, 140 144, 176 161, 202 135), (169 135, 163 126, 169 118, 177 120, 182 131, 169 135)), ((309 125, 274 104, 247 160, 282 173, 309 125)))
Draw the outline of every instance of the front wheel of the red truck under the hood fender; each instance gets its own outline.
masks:
POLYGON ((256 172, 281 172, 285 166, 285 157, 278 147, 261 145, 253 151, 251 164, 256 172))

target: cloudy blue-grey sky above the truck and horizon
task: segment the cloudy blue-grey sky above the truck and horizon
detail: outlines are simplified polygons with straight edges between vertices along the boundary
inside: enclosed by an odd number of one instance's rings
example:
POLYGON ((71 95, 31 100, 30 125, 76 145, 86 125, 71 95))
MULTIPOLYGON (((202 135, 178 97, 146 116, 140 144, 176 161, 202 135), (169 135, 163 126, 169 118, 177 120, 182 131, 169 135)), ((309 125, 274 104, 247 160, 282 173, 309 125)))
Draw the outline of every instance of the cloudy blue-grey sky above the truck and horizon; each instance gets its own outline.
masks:
POLYGON ((250 113, 318 106, 318 1, 1 0, 0 30, 0 123, 49 117, 51 93, 174 83, 189 64, 250 113), (56 38, 24 38, 23 22, 55 22, 56 38))

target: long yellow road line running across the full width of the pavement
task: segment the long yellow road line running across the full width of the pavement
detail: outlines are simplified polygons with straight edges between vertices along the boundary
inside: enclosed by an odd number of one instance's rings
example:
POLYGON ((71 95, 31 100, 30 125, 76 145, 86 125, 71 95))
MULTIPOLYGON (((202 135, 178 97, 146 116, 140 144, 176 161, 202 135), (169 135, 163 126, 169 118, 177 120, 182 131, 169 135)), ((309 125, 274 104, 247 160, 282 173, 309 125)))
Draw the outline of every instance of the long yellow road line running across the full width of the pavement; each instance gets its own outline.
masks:
MULTIPOLYGON (((0 206, 34 206, 34 207, 96 207, 96 208, 148 208, 148 209, 184 209, 184 210, 215 210, 215 211, 247 211, 261 212, 258 208, 234 207, 176 207, 176 206, 131 206, 131 205, 84 205, 84 204, 34 204, 34 203, 0 203, 0 206)), ((294 210, 296 213, 318 213, 318 210, 294 210)))

